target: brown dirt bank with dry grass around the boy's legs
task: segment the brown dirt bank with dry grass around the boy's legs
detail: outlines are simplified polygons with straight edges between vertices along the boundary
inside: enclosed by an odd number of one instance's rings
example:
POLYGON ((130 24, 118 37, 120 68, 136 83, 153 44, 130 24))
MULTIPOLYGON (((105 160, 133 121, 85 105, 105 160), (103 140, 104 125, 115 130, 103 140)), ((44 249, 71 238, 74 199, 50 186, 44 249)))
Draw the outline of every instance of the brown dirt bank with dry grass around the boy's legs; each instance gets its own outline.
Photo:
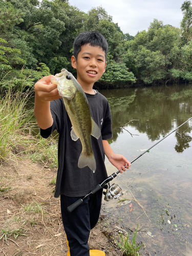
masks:
MULTIPOLYGON (((25 158, 0 166, 0 256, 67 255, 55 177, 56 168, 25 158)), ((120 256, 114 238, 119 230, 106 218, 101 213, 92 229, 90 249, 120 256)))

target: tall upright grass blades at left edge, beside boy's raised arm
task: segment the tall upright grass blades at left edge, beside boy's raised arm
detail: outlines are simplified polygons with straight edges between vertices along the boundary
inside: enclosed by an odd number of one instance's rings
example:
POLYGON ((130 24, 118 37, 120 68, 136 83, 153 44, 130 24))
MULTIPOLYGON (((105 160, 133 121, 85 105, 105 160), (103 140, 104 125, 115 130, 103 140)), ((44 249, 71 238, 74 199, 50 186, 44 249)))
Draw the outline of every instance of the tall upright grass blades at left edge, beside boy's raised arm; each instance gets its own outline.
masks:
POLYGON ((0 162, 8 154, 25 150, 27 131, 31 131, 32 109, 27 108, 29 93, 1 91, 0 93, 0 162), (20 151, 20 150, 19 150, 20 151))

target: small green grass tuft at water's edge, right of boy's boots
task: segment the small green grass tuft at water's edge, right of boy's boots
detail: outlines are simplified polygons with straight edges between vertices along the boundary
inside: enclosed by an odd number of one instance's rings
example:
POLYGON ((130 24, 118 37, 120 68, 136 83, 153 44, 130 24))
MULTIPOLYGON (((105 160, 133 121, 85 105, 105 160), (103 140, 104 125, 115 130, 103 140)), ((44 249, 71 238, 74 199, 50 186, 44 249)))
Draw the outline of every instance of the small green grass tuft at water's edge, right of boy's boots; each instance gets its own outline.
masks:
POLYGON ((139 249, 141 248, 141 245, 137 245, 136 243, 136 238, 137 238, 137 229, 138 229, 138 225, 136 228, 135 233, 133 233, 133 237, 132 239, 130 238, 130 232, 129 234, 127 234, 126 237, 124 237, 122 235, 122 233, 120 233, 120 241, 117 242, 120 250, 122 251, 122 255, 123 256, 138 256, 140 255, 139 253, 139 249))

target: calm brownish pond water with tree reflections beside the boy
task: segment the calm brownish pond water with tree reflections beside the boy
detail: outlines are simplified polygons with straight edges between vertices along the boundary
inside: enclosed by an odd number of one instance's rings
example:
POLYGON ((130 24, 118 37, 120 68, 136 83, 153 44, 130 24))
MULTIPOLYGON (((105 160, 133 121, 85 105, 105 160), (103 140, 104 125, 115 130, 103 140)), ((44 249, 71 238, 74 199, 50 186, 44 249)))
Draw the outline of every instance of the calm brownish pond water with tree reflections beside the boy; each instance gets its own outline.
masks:
MULTIPOLYGON (((100 91, 108 98, 113 118, 115 153, 132 161, 192 116, 192 86, 100 91), (131 119, 137 119, 128 123, 131 119), (121 127, 124 126, 124 129, 121 127), (129 131, 129 132, 128 132, 129 131), (131 136, 131 134, 132 136, 131 136)), ((122 226, 139 224, 138 240, 151 255, 192 255, 192 120, 149 153, 137 159, 113 182, 122 187, 120 199, 105 202, 109 218, 122 226), (145 213, 143 213, 143 206, 145 213)), ((108 174, 116 168, 106 159, 108 174)))

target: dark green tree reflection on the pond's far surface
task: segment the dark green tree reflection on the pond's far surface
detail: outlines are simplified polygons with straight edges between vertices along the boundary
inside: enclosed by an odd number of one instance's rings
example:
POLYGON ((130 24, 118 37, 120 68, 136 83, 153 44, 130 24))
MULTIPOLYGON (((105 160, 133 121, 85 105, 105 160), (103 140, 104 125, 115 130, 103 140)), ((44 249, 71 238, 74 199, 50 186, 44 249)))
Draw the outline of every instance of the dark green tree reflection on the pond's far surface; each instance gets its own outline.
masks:
MULTIPOLYGON (((172 86, 139 89, 120 89, 100 91, 108 98, 112 111, 113 139, 123 131, 121 127, 132 118, 139 119, 129 123, 139 133, 145 133, 149 140, 159 140, 174 128, 185 122, 192 114, 192 87, 172 86)), ((185 125, 190 133, 190 123, 185 125)), ((179 129, 183 131, 183 128, 179 129)), ((178 131, 178 132, 179 132, 178 131)), ((177 137, 175 146, 177 152, 187 148, 191 140, 189 135, 183 133, 177 137)))

